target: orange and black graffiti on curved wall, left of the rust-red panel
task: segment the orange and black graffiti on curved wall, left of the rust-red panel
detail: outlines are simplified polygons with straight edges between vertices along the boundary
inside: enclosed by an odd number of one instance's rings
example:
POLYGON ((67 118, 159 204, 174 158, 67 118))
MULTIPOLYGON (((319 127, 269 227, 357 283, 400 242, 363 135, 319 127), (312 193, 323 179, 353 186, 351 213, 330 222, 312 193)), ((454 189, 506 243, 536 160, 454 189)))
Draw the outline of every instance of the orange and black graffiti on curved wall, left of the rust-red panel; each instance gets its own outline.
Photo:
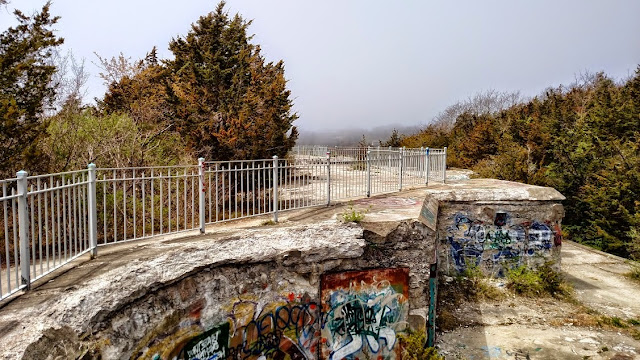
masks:
MULTIPOLYGON (((199 302, 202 303, 202 302, 199 302)), ((316 359, 321 309, 307 294, 233 299, 226 321, 207 328, 202 307, 167 319, 139 358, 151 360, 316 359)))

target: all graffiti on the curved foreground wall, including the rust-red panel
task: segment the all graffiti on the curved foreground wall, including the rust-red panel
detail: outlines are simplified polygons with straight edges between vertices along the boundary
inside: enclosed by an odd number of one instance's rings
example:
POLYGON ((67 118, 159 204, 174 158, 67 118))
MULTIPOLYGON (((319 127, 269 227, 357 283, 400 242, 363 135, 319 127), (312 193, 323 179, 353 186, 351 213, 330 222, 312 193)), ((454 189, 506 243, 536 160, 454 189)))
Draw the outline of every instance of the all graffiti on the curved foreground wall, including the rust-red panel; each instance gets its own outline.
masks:
POLYGON ((321 301, 307 293, 243 294, 217 307, 216 315, 202 298, 165 319, 134 354, 150 360, 395 359, 397 335, 407 326, 408 282, 406 268, 326 274, 321 301))

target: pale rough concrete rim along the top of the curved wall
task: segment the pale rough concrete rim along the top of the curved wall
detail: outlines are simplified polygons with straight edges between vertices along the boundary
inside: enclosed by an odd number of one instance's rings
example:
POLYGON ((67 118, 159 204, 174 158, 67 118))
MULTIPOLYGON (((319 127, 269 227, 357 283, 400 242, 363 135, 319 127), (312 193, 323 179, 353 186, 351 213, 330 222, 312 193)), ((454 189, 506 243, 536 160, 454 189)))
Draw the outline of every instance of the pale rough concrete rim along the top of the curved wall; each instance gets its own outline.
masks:
POLYGON ((78 334, 91 334, 127 304, 211 267, 286 262, 295 251, 299 265, 312 268, 320 260, 357 258, 365 246, 362 230, 352 225, 325 222, 265 230, 238 231, 233 238, 217 241, 202 236, 190 241, 130 244, 102 253, 2 309, 3 356, 21 358, 27 345, 50 328, 66 326, 78 334))

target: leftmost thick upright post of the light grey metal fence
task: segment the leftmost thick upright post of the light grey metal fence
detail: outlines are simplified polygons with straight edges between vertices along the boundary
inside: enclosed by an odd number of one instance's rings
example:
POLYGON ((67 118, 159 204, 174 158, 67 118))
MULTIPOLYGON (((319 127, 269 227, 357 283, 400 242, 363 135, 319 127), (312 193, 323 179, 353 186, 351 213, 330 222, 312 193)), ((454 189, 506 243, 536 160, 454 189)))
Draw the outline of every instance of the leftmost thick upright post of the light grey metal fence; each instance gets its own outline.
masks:
MULTIPOLYGON (((29 213, 27 211, 27 175, 18 171, 18 236, 20 237, 20 277, 26 289, 31 288, 31 259, 29 258, 29 213)), ((7 269, 8 271, 8 269, 7 269)))

